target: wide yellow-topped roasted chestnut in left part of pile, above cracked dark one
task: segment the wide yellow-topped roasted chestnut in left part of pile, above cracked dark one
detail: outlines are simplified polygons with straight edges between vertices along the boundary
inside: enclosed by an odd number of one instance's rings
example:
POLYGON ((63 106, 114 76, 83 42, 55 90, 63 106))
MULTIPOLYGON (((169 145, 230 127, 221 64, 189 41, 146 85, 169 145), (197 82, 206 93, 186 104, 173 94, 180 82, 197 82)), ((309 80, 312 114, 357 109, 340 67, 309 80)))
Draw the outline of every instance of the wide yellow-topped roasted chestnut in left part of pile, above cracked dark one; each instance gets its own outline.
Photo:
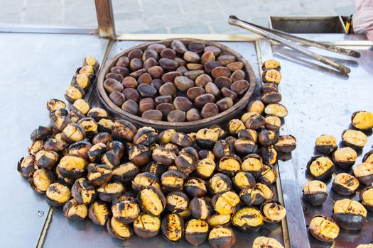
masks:
POLYGON ((85 159, 77 157, 75 154, 67 154, 60 160, 58 168, 63 176, 70 179, 78 179, 84 174, 87 164, 85 159))

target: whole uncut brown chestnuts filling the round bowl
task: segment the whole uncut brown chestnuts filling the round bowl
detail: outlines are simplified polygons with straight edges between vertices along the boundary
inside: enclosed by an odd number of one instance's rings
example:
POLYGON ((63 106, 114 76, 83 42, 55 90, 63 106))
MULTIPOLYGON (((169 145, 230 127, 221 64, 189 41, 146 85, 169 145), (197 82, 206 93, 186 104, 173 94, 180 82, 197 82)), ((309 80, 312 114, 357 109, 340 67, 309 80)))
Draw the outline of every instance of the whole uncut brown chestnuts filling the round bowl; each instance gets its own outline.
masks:
POLYGON ((124 111, 151 120, 184 122, 221 113, 249 89, 244 63, 202 41, 151 44, 119 57, 104 89, 124 111))

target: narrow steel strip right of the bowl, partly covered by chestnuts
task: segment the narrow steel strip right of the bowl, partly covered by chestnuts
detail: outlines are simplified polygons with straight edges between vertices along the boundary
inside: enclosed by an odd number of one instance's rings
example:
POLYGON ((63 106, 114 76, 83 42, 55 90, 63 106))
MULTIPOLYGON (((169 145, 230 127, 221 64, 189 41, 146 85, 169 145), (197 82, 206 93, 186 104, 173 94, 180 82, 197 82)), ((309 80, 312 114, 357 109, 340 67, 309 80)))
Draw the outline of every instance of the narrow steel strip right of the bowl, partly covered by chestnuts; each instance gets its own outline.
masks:
MULTIPOLYGON (((259 39, 256 42, 257 47, 260 52, 260 60, 264 62, 265 60, 272 59, 274 56, 272 54, 271 44, 269 40, 259 39)), ((281 61, 282 62, 282 61, 281 61)), ((281 66, 281 70, 283 66, 281 66)), ((288 81, 288 74, 283 74, 283 81, 288 81)), ((283 84, 279 85, 279 91, 283 94, 283 84)), ((287 105, 286 105, 287 106, 287 105)), ((280 135, 291 134, 288 130, 288 116, 284 118, 284 124, 281 127, 280 135)), ((298 147, 299 149, 299 147, 298 147)), ((303 211, 301 206, 301 194, 298 192, 297 181, 295 179, 295 160, 292 159, 292 154, 283 154, 277 163, 277 168, 279 170, 279 184, 282 188, 283 205, 286 208, 286 220, 288 223, 288 237, 291 247, 302 247, 308 248, 310 244, 308 243, 308 236, 305 219, 303 216, 303 211)))

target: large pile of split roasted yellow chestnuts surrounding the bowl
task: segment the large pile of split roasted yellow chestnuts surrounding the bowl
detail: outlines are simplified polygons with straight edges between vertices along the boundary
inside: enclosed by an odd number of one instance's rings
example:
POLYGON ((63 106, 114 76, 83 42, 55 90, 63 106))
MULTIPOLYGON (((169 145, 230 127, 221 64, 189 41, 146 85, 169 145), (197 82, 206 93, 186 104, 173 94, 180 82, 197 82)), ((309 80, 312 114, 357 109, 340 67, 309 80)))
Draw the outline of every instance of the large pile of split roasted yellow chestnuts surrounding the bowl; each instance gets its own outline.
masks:
MULTIPOLYGON (((273 103, 261 108, 255 101, 227 130, 158 133, 111 118, 104 109, 91 108, 84 94, 72 94, 70 87, 87 89, 80 74, 87 84, 94 79, 97 62, 90 57, 86 63, 66 92, 70 111, 63 101, 49 100, 50 125, 31 133, 28 156, 18 162, 20 174, 34 191, 45 193, 49 205, 63 206, 72 221, 88 217, 118 239, 162 232, 172 242, 208 240, 215 248, 236 242, 230 225, 254 232, 285 218, 272 188, 279 152, 296 147, 295 138, 277 133, 284 108, 271 108, 264 118, 261 113, 273 103)), ((252 247, 269 244, 283 247, 269 237, 257 237, 252 247)))

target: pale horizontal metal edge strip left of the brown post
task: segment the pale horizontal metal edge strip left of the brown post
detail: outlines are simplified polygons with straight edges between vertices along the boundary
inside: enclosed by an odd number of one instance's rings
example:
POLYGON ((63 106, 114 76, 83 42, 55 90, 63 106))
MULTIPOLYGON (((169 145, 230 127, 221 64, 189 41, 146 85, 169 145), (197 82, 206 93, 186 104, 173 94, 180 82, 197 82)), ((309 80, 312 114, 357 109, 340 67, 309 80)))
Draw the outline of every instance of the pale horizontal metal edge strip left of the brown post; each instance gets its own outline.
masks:
POLYGON ((0 24, 0 33, 64 33, 97 35, 98 28, 96 26, 0 24))

